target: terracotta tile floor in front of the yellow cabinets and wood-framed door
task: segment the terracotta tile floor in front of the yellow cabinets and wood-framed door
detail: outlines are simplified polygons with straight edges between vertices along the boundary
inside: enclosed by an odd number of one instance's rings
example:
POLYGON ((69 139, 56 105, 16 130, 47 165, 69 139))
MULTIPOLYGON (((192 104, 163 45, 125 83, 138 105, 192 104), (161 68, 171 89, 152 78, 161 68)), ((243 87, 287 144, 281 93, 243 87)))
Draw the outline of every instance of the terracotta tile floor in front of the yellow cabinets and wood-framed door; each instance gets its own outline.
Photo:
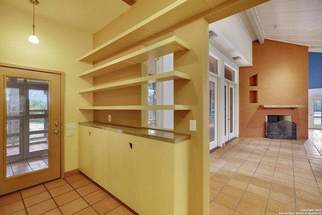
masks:
POLYGON ((82 174, 75 174, 0 197, 0 214, 134 213, 82 174))

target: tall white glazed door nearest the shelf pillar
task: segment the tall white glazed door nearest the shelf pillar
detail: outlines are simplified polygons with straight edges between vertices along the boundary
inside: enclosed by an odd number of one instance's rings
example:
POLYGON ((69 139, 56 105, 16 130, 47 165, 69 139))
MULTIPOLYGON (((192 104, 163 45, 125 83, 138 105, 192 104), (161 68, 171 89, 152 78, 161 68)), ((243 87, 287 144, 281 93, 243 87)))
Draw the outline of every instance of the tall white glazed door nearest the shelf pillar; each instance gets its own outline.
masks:
POLYGON ((217 96, 218 82, 214 77, 209 77, 209 150, 218 146, 218 134, 217 134, 217 96))

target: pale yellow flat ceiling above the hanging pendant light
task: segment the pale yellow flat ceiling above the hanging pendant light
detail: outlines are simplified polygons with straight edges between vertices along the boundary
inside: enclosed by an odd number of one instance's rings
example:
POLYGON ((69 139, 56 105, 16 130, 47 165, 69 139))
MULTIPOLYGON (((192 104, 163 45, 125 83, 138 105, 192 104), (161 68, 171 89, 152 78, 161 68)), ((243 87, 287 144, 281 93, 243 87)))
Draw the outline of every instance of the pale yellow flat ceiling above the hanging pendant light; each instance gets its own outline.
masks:
MULTIPOLYGON (((36 26, 37 19, 45 17, 93 34, 130 8, 122 0, 38 1, 39 5, 35 5, 36 26)), ((10 5, 31 14, 33 12, 33 5, 29 0, 0 0, 0 7, 2 4, 10 5)))

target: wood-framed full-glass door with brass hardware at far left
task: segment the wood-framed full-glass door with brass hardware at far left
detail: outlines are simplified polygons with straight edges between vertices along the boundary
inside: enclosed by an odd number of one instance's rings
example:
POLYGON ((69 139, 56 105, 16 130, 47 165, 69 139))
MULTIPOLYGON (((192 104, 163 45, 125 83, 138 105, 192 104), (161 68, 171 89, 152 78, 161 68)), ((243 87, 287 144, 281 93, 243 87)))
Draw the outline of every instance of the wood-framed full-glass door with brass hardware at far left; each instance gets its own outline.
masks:
POLYGON ((0 66, 0 195, 60 177, 61 74, 0 66))

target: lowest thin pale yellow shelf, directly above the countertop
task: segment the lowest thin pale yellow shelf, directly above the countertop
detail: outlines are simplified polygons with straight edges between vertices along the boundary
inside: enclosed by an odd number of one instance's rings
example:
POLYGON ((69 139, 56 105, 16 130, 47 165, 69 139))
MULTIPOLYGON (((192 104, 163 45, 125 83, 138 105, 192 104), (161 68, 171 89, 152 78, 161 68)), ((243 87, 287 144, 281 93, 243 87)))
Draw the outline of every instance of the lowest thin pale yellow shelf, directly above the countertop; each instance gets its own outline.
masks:
POLYGON ((190 105, 81 106, 79 110, 191 110, 190 105))

